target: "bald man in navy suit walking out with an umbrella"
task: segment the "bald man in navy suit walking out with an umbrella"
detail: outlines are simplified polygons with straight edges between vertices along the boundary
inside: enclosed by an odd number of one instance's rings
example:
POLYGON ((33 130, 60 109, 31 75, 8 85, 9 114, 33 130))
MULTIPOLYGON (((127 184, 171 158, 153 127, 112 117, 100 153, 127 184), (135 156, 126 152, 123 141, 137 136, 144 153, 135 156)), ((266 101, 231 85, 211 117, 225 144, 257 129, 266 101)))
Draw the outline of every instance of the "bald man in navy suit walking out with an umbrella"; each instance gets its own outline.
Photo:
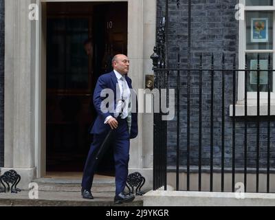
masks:
POLYGON ((115 203, 123 203, 135 199, 134 195, 125 195, 124 188, 128 176, 130 139, 137 136, 137 111, 136 109, 133 111, 134 104, 132 103, 133 98, 136 97, 131 95, 131 79, 126 76, 129 72, 127 56, 115 55, 112 65, 113 71, 98 78, 94 91, 94 107, 98 116, 91 129, 91 133, 94 134, 94 141, 85 163, 81 192, 84 199, 94 199, 91 195, 91 186, 96 170, 96 153, 98 153, 107 133, 113 129, 114 201, 115 203))

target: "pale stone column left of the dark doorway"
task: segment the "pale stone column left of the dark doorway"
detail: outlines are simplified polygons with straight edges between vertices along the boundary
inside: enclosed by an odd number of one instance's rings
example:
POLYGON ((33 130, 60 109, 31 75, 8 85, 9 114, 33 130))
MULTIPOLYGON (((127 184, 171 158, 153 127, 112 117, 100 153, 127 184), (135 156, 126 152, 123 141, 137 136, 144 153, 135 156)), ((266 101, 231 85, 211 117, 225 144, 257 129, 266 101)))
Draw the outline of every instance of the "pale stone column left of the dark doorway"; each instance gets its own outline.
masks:
POLYGON ((35 22, 31 0, 5 0, 5 170, 21 175, 19 188, 36 176, 34 165, 35 22))

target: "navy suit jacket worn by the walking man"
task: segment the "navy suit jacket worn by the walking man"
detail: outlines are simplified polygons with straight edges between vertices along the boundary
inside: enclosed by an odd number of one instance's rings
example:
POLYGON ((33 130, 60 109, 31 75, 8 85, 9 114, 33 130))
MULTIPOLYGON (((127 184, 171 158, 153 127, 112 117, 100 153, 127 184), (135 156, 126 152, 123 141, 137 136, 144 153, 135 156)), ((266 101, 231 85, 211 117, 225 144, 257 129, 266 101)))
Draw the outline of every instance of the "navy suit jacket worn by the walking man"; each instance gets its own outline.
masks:
MULTIPOLYGON (((132 89, 132 80, 128 76, 125 76, 126 82, 130 89, 132 89)), ((112 71, 108 74, 103 74, 98 78, 98 82, 96 83, 96 88, 94 90, 94 107, 98 113, 98 116, 96 117, 96 120, 94 122, 94 125, 91 128, 90 133, 96 133, 96 134, 102 134, 107 133, 111 127, 109 124, 104 124, 104 120, 109 116, 113 116, 113 109, 116 107, 116 95, 117 95, 117 84, 118 79, 115 76, 115 73, 112 71), (101 97, 100 94, 102 92, 102 89, 111 89, 113 91, 114 97, 101 97), (109 109, 111 111, 103 112, 101 110, 102 102, 106 102, 108 98, 108 104, 109 109)), ((120 96, 120 89, 118 89, 118 95, 120 96)), ((118 97, 119 98, 119 97, 118 97)), ((132 97, 133 98, 133 97, 132 97)), ((136 104, 137 108, 137 104, 136 104)), ((107 110, 107 109, 105 109, 107 110)), ((133 111, 133 110, 132 110, 133 111)), ((130 138, 135 138, 137 136, 137 109, 135 109, 135 112, 131 113, 131 130, 130 130, 130 138)))

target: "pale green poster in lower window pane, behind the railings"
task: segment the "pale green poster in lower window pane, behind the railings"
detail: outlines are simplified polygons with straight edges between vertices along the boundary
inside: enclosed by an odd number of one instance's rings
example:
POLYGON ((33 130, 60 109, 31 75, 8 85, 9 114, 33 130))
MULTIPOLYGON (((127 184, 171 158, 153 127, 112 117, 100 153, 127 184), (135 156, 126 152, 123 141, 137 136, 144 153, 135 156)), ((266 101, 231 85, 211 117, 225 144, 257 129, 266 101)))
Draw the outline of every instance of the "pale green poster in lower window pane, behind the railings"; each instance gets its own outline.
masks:
MULTIPOLYGON (((267 69, 268 61, 267 60, 260 60, 260 69, 267 69)), ((250 69, 257 69, 258 61, 251 60, 250 61, 250 69)), ((267 71, 260 72, 260 85, 267 85, 267 71)), ((257 85, 257 72, 251 71, 250 72, 250 84, 257 85)))

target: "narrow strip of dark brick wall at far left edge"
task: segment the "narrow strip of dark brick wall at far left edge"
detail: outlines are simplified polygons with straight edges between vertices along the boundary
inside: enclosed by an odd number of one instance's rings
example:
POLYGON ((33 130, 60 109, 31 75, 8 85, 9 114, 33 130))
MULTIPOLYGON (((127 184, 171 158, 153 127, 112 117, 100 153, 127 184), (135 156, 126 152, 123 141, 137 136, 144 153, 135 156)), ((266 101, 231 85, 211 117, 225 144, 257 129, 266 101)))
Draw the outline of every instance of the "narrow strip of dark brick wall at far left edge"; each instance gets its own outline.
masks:
POLYGON ((4 3, 0 0, 0 167, 4 164, 4 3))

